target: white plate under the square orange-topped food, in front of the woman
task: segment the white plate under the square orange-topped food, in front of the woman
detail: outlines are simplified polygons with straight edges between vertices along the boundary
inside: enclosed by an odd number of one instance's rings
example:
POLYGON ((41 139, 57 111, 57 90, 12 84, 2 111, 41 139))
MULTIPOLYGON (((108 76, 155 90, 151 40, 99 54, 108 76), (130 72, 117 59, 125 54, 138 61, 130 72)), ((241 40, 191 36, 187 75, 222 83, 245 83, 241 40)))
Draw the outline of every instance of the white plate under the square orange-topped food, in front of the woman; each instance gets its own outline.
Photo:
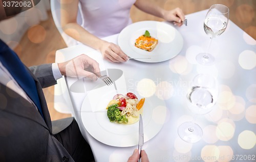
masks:
POLYGON ((141 62, 156 63, 174 58, 183 47, 181 34, 171 25, 160 21, 140 21, 126 26, 118 36, 118 45, 123 52, 131 58, 141 62), (134 45, 135 40, 143 35, 145 31, 158 39, 156 48, 152 51, 145 51, 134 45))

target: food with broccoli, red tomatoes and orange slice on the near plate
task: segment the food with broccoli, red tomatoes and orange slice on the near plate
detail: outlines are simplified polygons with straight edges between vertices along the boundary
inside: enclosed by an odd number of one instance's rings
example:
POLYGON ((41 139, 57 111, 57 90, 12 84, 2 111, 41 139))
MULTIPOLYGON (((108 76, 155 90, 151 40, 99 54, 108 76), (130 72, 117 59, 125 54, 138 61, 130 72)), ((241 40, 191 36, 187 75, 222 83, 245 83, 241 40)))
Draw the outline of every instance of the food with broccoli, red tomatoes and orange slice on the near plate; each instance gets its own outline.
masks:
POLYGON ((145 98, 138 100, 134 93, 126 95, 116 94, 109 102, 106 109, 107 116, 111 122, 122 124, 133 124, 139 121, 139 115, 143 113, 145 98))

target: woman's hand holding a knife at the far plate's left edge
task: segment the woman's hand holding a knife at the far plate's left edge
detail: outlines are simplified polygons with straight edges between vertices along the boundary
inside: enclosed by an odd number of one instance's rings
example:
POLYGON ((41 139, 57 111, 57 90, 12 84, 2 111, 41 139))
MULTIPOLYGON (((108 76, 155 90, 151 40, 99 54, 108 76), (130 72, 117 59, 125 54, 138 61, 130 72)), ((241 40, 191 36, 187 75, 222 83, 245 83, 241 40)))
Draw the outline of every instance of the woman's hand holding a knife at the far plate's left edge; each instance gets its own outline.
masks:
POLYGON ((104 41, 99 49, 103 59, 110 62, 125 62, 129 60, 121 48, 114 43, 104 41))

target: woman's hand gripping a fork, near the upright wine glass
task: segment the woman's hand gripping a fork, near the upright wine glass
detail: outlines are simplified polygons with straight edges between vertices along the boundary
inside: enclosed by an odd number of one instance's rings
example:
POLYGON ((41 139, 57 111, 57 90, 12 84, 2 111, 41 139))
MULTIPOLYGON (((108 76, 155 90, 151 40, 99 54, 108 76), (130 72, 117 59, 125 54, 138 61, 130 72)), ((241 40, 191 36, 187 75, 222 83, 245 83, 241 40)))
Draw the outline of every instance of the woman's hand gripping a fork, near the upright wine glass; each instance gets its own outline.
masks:
POLYGON ((166 21, 174 21, 175 25, 181 26, 185 20, 185 15, 180 8, 176 8, 174 10, 165 11, 163 19, 166 21))

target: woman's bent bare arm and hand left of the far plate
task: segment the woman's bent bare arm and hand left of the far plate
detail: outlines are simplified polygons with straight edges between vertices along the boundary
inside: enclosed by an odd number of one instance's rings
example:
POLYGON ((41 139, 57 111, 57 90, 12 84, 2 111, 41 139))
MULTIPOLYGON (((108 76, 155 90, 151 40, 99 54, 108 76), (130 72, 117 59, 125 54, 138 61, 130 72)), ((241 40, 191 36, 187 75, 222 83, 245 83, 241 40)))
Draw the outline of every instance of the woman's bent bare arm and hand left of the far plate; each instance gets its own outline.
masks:
POLYGON ((124 62, 128 60, 119 46, 99 39, 77 24, 78 3, 79 0, 60 1, 62 30, 75 40, 100 50, 103 58, 110 62, 124 62))

